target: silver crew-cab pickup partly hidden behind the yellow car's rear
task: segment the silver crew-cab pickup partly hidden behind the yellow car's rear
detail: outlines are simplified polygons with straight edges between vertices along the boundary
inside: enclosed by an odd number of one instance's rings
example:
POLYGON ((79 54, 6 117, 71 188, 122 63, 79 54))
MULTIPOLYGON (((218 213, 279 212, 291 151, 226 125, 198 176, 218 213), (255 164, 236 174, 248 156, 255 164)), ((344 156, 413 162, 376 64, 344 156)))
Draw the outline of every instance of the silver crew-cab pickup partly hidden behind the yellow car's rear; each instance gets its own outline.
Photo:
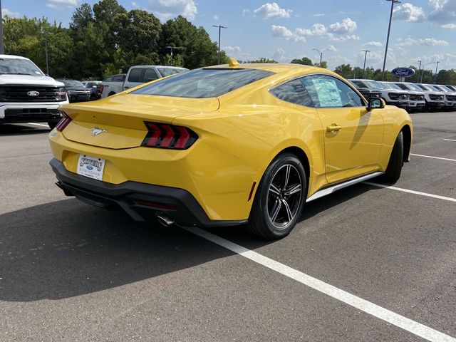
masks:
POLYGON ((132 66, 128 73, 109 76, 101 83, 101 98, 121 93, 142 83, 188 71, 178 66, 132 66))

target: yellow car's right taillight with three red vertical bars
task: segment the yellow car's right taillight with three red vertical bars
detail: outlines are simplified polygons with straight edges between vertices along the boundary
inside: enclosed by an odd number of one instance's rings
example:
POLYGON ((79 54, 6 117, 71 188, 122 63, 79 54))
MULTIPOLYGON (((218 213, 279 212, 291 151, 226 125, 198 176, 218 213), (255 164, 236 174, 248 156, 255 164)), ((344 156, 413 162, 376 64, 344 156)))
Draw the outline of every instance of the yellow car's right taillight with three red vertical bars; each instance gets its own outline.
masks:
POLYGON ((190 128, 167 125, 165 123, 145 123, 149 133, 142 146, 186 150, 198 139, 197 133, 190 128))

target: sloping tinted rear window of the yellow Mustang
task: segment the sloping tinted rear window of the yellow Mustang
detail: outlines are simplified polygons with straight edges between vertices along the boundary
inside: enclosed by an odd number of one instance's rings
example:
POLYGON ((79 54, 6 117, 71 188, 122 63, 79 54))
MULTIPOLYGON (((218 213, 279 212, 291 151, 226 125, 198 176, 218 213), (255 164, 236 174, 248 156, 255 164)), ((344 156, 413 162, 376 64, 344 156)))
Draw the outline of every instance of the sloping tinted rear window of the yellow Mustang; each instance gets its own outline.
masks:
POLYGON ((214 98, 273 74, 271 71, 257 69, 204 68, 164 78, 135 90, 132 94, 214 98))

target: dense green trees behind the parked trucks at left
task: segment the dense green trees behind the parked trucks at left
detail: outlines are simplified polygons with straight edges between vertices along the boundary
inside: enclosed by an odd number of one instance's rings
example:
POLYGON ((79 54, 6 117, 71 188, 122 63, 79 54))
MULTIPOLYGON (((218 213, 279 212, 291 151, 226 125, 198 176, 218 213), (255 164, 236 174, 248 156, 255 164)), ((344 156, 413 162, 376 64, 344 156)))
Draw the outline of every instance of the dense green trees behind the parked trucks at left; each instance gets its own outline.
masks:
MULTIPOLYGON (((126 11, 117 0, 81 4, 69 28, 46 18, 3 20, 5 53, 26 56, 45 71, 46 40, 49 74, 56 78, 99 79, 134 65, 192 69, 217 64, 217 43, 203 27, 182 16, 162 24, 147 11, 126 11)), ((222 51, 221 63, 227 61, 222 51)))

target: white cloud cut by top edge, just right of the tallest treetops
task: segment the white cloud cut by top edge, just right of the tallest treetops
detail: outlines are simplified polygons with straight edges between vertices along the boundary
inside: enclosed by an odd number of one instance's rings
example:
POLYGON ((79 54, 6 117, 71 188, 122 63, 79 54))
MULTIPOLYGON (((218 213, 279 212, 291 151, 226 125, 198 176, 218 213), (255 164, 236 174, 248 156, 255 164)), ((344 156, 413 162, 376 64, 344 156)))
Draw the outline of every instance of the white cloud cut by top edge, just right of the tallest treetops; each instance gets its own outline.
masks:
POLYGON ((149 7, 162 20, 179 15, 193 20, 198 13, 193 0, 149 0, 149 7))

